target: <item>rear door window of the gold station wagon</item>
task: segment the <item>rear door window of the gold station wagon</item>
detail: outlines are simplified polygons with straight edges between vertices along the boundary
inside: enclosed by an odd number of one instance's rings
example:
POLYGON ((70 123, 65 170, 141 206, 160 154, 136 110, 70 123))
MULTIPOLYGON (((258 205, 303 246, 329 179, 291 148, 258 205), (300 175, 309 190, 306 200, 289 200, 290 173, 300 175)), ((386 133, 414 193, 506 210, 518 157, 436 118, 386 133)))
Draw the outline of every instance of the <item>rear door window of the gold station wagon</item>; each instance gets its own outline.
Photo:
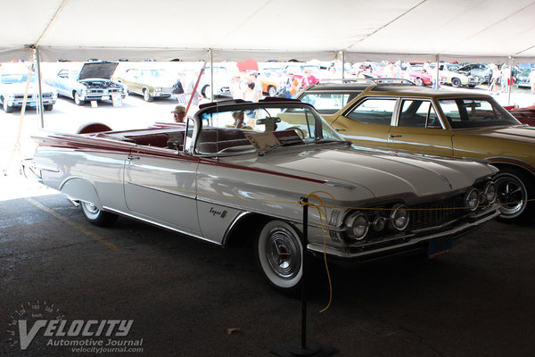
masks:
POLYGON ((346 116, 366 124, 391 125, 396 99, 366 99, 346 116))

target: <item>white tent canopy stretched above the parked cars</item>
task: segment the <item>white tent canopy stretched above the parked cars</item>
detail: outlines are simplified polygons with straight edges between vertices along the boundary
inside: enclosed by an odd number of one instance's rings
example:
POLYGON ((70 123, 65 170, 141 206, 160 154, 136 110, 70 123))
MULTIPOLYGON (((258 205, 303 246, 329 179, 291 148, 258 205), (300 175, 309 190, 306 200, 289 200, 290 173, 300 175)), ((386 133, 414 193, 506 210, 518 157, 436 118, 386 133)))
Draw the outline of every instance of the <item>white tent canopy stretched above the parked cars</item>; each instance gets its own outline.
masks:
POLYGON ((533 0, 0 0, 0 62, 374 58, 534 62, 533 0), (511 60, 511 58, 513 60, 511 60))

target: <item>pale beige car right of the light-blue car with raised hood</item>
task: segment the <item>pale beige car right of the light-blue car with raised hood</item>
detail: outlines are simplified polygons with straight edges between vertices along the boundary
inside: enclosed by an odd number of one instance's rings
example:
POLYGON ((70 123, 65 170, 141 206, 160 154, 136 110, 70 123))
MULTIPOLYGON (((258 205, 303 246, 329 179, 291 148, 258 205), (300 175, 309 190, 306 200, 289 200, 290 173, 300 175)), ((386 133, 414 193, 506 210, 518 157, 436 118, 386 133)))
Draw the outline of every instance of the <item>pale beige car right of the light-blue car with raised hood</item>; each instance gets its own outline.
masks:
POLYGON ((172 95, 177 75, 162 68, 128 68, 123 73, 116 73, 112 79, 128 87, 128 93, 143 95, 145 102, 152 102, 154 98, 172 95))

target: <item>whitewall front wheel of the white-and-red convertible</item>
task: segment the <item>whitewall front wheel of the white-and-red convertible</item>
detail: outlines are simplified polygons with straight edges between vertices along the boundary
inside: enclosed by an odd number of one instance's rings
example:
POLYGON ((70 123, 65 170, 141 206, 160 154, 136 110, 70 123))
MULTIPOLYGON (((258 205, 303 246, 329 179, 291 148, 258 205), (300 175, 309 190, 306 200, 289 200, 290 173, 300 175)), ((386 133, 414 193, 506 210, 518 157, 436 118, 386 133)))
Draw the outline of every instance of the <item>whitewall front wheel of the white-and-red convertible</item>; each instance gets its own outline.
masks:
POLYGON ((259 232, 255 255, 271 286, 293 294, 302 278, 303 248, 296 229, 283 220, 270 220, 259 232))

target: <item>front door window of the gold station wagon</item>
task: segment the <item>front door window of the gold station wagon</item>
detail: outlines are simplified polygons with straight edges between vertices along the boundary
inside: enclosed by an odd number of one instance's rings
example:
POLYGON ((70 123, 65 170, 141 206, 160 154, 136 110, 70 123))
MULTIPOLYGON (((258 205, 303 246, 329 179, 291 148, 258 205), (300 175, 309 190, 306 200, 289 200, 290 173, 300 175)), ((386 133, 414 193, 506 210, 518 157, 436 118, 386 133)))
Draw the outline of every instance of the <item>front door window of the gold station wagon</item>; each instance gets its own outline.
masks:
POLYGON ((431 101, 428 100, 404 100, 399 112, 399 127, 414 128, 439 128, 440 120, 435 112, 431 101))

